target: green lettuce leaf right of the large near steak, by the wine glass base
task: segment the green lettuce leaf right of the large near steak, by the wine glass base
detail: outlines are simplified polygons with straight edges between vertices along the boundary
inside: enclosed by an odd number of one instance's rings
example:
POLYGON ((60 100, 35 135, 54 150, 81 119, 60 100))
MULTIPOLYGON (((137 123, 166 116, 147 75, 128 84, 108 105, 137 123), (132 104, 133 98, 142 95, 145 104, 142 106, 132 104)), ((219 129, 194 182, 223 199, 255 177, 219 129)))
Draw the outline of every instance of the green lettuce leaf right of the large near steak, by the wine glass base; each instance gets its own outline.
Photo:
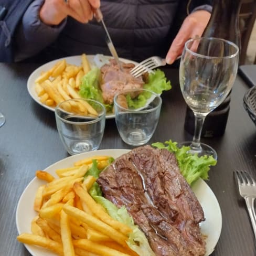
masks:
POLYGON ((169 152, 175 154, 180 173, 187 180, 187 183, 191 185, 197 179, 208 179, 208 172, 210 166, 217 164, 217 161, 212 156, 200 156, 197 154, 187 153, 190 147, 183 146, 181 148, 177 147, 177 142, 172 142, 171 140, 165 143, 156 142, 152 146, 157 148, 166 148, 169 152))

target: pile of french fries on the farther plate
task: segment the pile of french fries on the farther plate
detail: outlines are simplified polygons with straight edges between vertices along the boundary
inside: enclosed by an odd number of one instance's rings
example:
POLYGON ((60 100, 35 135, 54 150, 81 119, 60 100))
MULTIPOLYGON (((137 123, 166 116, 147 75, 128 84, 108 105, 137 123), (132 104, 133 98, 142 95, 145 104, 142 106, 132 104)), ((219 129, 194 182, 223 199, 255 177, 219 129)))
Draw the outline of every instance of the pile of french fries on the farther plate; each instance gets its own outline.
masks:
MULTIPOLYGON (((47 71, 44 71, 35 80, 35 91, 42 104, 55 108, 62 101, 79 99, 81 79, 84 74, 91 70, 86 54, 81 55, 81 66, 71 65, 66 59, 57 61, 56 64, 47 71)), ((72 101, 65 105, 67 111, 79 110, 82 113, 97 115, 97 112, 90 104, 79 104, 72 101)))

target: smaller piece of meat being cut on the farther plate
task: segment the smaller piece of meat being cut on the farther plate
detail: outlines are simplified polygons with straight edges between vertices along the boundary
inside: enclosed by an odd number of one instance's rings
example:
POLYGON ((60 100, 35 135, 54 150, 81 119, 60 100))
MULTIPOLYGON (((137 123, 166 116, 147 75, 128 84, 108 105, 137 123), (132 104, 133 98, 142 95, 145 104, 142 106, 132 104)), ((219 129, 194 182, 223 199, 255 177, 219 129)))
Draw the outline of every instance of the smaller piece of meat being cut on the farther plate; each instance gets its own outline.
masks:
POLYGON ((110 59, 110 64, 101 67, 101 91, 105 103, 112 104, 116 92, 143 87, 142 76, 135 78, 130 74, 134 64, 121 62, 121 65, 123 71, 119 69, 114 59, 110 59))

